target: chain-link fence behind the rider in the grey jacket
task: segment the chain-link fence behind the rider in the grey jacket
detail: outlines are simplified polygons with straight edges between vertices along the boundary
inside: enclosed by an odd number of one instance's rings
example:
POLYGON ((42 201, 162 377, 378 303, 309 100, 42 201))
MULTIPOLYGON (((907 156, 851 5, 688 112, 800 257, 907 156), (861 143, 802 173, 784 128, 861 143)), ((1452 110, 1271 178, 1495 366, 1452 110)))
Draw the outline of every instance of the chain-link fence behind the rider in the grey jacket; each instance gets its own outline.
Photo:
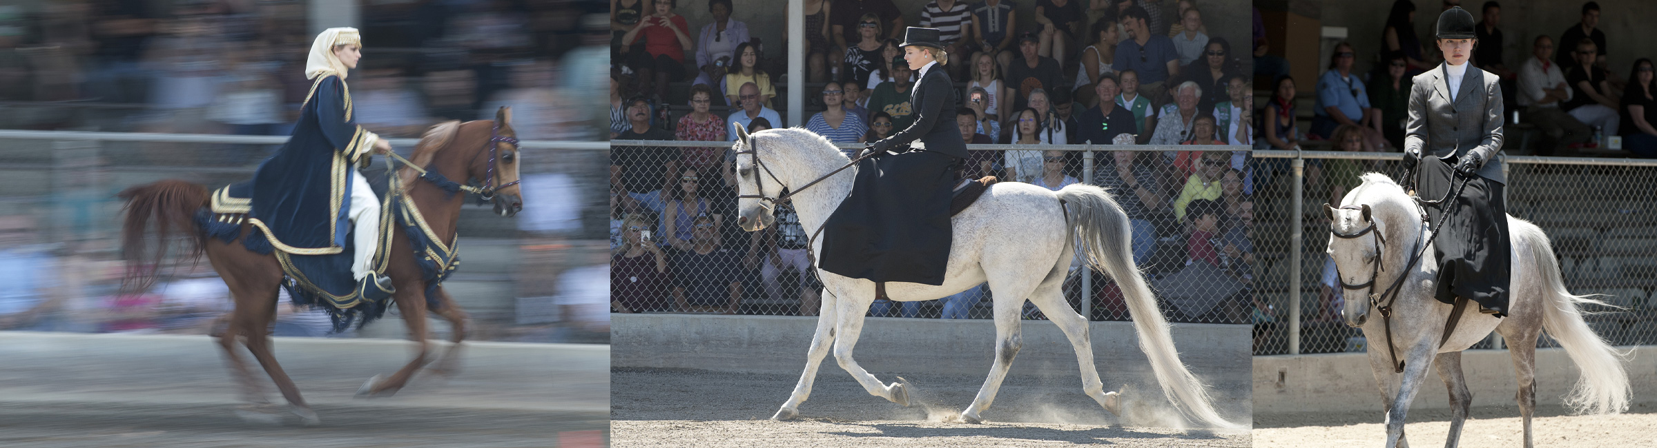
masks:
MULTIPOLYGON (((1402 154, 1254 152, 1259 174, 1254 233, 1259 298, 1254 354, 1360 352, 1364 334, 1341 321, 1344 291, 1324 253, 1329 218, 1357 175, 1402 177, 1402 154), (1296 169, 1299 165, 1299 170, 1296 169), (1299 200, 1296 200, 1299 193, 1299 200), (1296 245, 1299 240, 1299 245, 1296 245), (1296 269, 1297 268, 1297 269, 1296 269), (1296 278, 1299 276, 1299 278, 1296 278)), ((1657 162, 1629 159, 1505 157, 1508 213, 1543 228, 1566 288, 1624 307, 1594 306, 1589 326, 1616 346, 1657 344, 1657 162)), ((1362 298, 1359 298, 1362 299, 1362 298)), ((1500 349, 1491 336, 1473 349, 1500 349)), ((1549 337, 1539 347, 1556 347, 1549 337)))

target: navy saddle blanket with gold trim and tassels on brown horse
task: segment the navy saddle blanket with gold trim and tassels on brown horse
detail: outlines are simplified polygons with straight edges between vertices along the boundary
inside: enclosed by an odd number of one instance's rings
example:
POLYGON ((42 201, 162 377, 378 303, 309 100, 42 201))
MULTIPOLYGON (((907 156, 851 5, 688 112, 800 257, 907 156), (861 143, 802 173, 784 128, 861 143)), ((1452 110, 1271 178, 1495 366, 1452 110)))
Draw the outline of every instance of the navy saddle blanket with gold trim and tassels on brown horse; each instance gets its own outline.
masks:
MULTIPOLYGON (((363 169, 374 197, 379 202, 379 238, 376 238, 374 258, 370 265, 374 271, 384 273, 391 261, 393 231, 403 230, 411 241, 414 260, 421 266, 426 281, 426 306, 436 309, 437 286, 461 265, 454 245, 446 245, 436 235, 426 218, 414 207, 408 195, 389 195, 386 169, 373 165, 363 169)), ((212 203, 197 212, 196 220, 210 238, 225 243, 242 236, 242 245, 254 253, 275 253, 282 265, 282 286, 288 291, 293 304, 323 307, 333 319, 335 331, 345 331, 356 322, 358 327, 378 319, 389 306, 388 301, 368 301, 356 291, 356 278, 351 276, 351 256, 355 255, 355 238, 345 238, 345 248, 335 255, 293 255, 270 245, 270 235, 262 226, 250 225, 254 218, 252 180, 225 185, 212 192, 212 203), (245 230, 244 230, 245 228, 245 230)), ((459 236, 456 236, 459 243, 459 236)))

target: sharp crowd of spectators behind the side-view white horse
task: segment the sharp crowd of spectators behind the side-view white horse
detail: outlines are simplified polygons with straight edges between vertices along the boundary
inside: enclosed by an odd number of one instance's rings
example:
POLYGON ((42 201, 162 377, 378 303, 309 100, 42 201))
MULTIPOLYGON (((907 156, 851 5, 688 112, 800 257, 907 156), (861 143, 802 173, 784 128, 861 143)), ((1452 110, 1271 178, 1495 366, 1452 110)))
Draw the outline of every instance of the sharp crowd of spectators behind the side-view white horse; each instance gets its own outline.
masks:
MULTIPOLYGON (((749 25, 739 20, 744 15, 729 0, 704 3, 709 23, 679 23, 674 0, 613 3, 613 139, 729 141, 737 134, 736 124, 749 132, 784 126, 779 114, 784 99, 777 98, 782 64, 764 55, 769 43, 749 33, 749 25), (726 93, 726 99, 713 93, 726 93)), ((898 48, 905 26, 940 30, 951 55, 944 68, 959 88, 956 124, 969 144, 1254 144, 1248 126, 1249 78, 1229 43, 1208 33, 1200 2, 935 0, 921 5, 920 23, 906 23, 905 12, 891 0, 817 0, 805 2, 802 12, 807 40, 802 74, 810 89, 802 122, 837 144, 875 142, 913 121, 908 99, 915 73, 898 48), (1019 17, 1034 17, 1034 26, 1019 26, 1019 17)), ((611 271, 611 288, 626 298, 613 303, 615 311, 815 314, 817 281, 805 263, 797 217, 790 218, 792 210, 784 207, 775 212, 775 230, 742 235, 722 218, 736 205, 734 159, 729 150, 703 150, 611 149, 615 260, 616 266, 628 266, 611 271), (693 157, 714 160, 713 172, 708 164, 689 169, 686 160, 693 157), (676 185, 691 180, 709 207, 668 207, 676 185), (703 218, 713 225, 709 245, 689 250, 686 236, 674 233, 703 218), (744 251, 734 241, 749 245, 744 251), (734 266, 729 273, 709 271, 713 261, 696 261, 701 265, 694 268, 678 265, 688 253, 704 255, 708 248, 729 251, 721 260, 741 263, 714 263, 734 266), (713 288, 706 281, 717 283, 719 293, 681 293, 713 288), (799 288, 799 294, 789 288, 799 288), (691 296, 704 301, 681 299, 691 296)), ((1241 283, 1251 278, 1241 260, 1253 246, 1223 240, 1244 226, 1238 212, 1244 207, 1236 203, 1251 203, 1246 152, 1105 154, 1092 179, 1112 187, 1133 217, 1135 260, 1158 266, 1155 273, 1208 263, 1241 283), (1185 169, 1176 169, 1176 162, 1185 169), (1231 180, 1238 195, 1221 202, 1223 185, 1231 180), (1208 203, 1201 207, 1215 213, 1186 217, 1188 202, 1208 203), (1191 240, 1193 235, 1206 236, 1191 240), (1221 258, 1238 261, 1220 263, 1221 258)), ((971 150, 959 175, 998 175, 1054 190, 1087 177, 1080 154, 1041 147, 971 150)), ((1095 284, 1107 283, 1100 278, 1095 284)), ((1105 289, 1112 288, 1099 289, 1110 301, 1114 293, 1105 289)), ((984 291, 973 288, 946 298, 941 314, 966 317, 984 291)), ((1120 294, 1115 301, 1120 304, 1120 294)), ((872 309, 873 316, 888 312, 916 316, 918 304, 872 309)), ((1123 319, 1125 311, 1117 317, 1123 319)))

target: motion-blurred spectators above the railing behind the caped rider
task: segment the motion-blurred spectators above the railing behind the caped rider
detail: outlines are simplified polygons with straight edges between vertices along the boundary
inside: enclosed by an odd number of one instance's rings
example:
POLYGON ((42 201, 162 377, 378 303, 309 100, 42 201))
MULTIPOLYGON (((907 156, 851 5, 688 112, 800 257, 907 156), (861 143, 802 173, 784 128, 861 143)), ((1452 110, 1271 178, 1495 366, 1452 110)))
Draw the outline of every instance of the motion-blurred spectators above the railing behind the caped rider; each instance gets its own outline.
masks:
MULTIPOLYGON (((308 2, 28 3, 0 7, 0 101, 17 101, 0 127, 287 136, 310 89, 308 2)), ((381 136, 418 137, 512 104, 519 122, 535 121, 519 126, 534 134, 520 137, 600 139, 597 116, 567 111, 597 104, 590 71, 605 55, 573 50, 583 48, 583 15, 601 7, 363 3, 355 109, 381 136)))

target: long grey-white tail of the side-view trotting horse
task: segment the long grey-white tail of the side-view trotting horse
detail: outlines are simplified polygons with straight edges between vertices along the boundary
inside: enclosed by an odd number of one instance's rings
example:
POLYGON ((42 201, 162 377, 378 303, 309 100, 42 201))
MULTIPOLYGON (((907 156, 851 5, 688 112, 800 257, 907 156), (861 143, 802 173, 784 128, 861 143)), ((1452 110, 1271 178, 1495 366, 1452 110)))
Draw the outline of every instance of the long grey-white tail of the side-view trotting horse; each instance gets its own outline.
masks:
POLYGON ((1105 192, 1087 183, 1072 183, 1059 190, 1059 200, 1069 205, 1072 233, 1082 245, 1084 260, 1094 269, 1110 274, 1122 289, 1122 298, 1133 316, 1133 329, 1140 350, 1150 359, 1162 393, 1175 407, 1196 420, 1216 428, 1246 428, 1228 422, 1215 412, 1208 387, 1180 362, 1180 352, 1168 334, 1168 321, 1157 309, 1157 298, 1133 265, 1132 223, 1122 207, 1105 192))

